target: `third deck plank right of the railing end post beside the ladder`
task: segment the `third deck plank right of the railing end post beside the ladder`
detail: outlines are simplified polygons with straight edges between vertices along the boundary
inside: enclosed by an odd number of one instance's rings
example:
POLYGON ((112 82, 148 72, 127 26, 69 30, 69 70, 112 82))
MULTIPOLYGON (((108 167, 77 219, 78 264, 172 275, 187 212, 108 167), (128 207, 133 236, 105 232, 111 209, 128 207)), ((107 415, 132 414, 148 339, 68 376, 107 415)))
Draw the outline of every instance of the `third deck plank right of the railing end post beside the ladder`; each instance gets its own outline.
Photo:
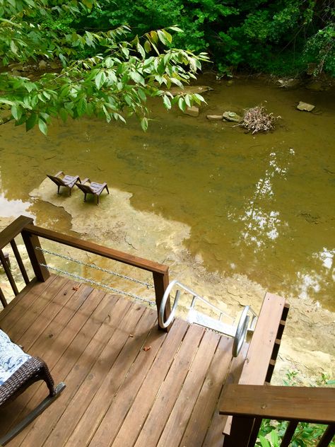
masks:
POLYGON ((160 435, 158 447, 179 446, 219 341, 220 335, 206 330, 163 433, 160 435))

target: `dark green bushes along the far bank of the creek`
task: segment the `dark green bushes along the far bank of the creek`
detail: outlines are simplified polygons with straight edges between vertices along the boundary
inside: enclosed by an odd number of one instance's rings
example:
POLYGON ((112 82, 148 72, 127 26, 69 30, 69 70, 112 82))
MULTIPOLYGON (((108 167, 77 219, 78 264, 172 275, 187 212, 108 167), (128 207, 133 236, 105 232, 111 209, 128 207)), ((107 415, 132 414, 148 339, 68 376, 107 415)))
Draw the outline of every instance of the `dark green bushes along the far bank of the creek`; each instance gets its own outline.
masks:
POLYGON ((114 0, 101 2, 79 28, 128 23, 136 33, 177 23, 176 43, 208 51, 218 69, 298 74, 314 62, 335 75, 334 0, 114 0))

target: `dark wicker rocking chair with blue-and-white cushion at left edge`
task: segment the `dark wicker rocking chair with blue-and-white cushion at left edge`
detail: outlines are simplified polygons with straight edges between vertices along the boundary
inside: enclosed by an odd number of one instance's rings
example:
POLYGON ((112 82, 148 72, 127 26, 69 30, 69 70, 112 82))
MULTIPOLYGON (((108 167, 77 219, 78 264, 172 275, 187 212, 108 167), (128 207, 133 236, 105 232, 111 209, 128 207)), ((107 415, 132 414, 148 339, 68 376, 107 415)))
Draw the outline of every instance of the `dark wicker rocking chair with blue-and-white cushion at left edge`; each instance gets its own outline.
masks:
MULTIPOLYGON (((47 367, 47 364, 45 364, 45 361, 40 359, 39 357, 32 357, 28 354, 25 354, 25 352, 20 349, 16 344, 10 341, 9 337, 3 332, 1 332, 1 340, 4 340, 4 343, 8 345, 11 349, 13 349, 13 352, 15 354, 9 354, 8 358, 13 361, 13 357, 15 357, 13 363, 16 363, 16 366, 20 364, 20 361, 23 361, 23 363, 18 366, 16 371, 11 373, 11 375, 6 378, 7 371, 6 366, 5 368, 1 366, 1 382, 3 383, 0 385, 0 408, 4 405, 8 404, 12 400, 16 399, 18 395, 23 393, 23 391, 28 388, 30 385, 37 381, 45 381, 47 384, 47 388, 49 389, 49 395, 45 397, 42 402, 40 402, 35 409, 30 412, 22 421, 20 421, 16 426, 11 429, 11 431, 8 431, 1 439, 0 439, 0 445, 4 446, 6 443, 11 441, 11 439, 14 438, 20 431, 22 431, 25 426, 30 424, 39 414, 41 414, 49 405, 58 397, 59 393, 61 393, 62 390, 64 390, 65 385, 64 383, 59 383, 56 387, 54 386, 54 381, 52 379, 52 376, 49 372, 49 368, 47 367), (18 356, 22 353, 22 359, 18 360, 18 356), (5 379, 4 379, 5 377, 5 379)), ((4 348, 4 345, 2 346, 4 348)), ((1 354, 1 359, 3 360, 4 357, 4 349, 1 354)), ((5 364, 10 363, 8 359, 5 359, 5 364)))

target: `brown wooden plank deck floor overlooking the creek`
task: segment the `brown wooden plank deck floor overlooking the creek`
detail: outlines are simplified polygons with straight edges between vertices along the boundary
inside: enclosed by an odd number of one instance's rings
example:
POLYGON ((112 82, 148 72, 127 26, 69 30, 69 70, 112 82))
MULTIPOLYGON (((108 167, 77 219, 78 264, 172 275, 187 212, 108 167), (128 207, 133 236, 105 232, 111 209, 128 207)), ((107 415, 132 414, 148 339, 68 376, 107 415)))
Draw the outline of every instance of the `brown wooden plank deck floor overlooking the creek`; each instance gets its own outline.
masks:
MULTIPOLYGON (((159 331, 156 316, 54 275, 21 292, 0 327, 66 389, 8 446, 222 447, 218 400, 245 354, 233 360, 233 339, 183 320, 159 331)), ((2 409, 0 436, 45 395, 36 383, 2 409)))

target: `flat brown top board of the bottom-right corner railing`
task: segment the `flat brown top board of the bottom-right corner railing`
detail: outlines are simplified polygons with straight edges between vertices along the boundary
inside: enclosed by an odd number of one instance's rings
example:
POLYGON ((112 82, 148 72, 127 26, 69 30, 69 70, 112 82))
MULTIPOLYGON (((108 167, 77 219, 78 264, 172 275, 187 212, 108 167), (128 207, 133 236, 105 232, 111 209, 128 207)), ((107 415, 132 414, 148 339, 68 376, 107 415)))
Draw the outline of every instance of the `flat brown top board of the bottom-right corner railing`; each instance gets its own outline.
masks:
POLYGON ((226 385, 221 414, 284 421, 335 423, 335 388, 226 385))

